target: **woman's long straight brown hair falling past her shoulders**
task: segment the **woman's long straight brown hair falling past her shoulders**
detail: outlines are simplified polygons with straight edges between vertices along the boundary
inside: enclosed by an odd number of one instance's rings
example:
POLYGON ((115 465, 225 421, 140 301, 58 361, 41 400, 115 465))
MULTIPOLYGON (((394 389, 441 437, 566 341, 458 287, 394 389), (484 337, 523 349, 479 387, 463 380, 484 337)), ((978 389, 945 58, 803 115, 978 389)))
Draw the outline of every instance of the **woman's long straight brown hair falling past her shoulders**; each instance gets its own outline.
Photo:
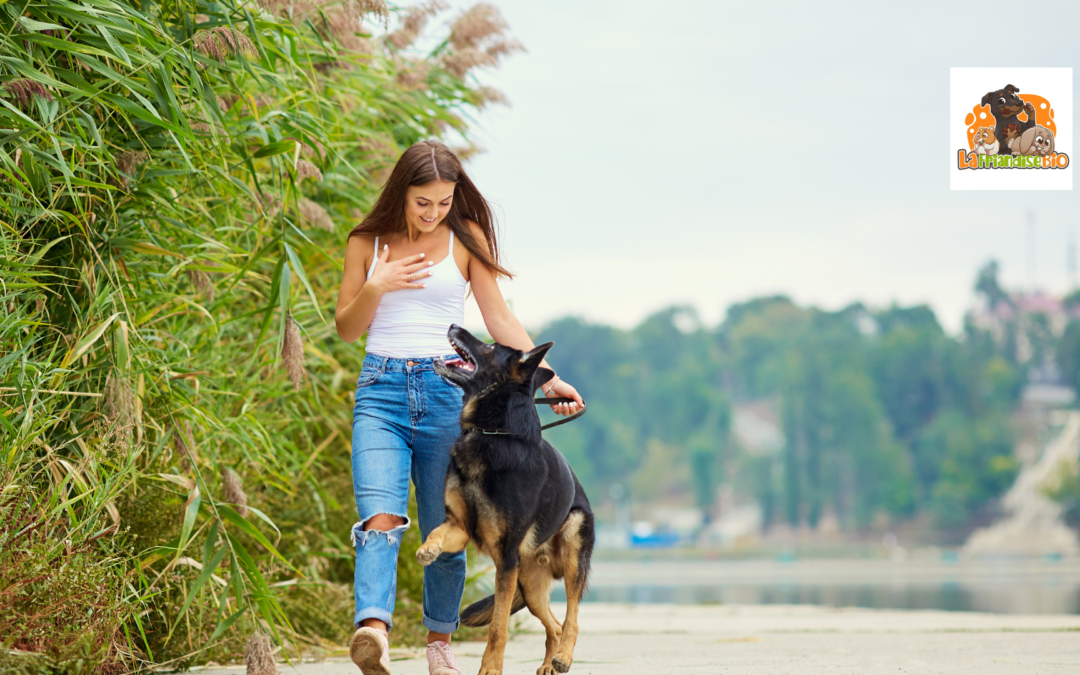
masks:
POLYGON ((406 190, 409 186, 428 185, 435 180, 456 184, 454 201, 444 219, 454 234, 461 240, 469 253, 480 258, 495 272, 496 278, 512 278, 513 274, 499 264, 499 245, 496 242, 496 224, 491 207, 469 179, 457 156, 437 140, 421 140, 402 153, 401 159, 394 164, 387 185, 382 187, 372 213, 352 228, 349 237, 357 234, 382 237, 401 232, 406 227, 406 190), (467 220, 480 226, 484 237, 487 238, 486 246, 485 242, 476 240, 467 220))

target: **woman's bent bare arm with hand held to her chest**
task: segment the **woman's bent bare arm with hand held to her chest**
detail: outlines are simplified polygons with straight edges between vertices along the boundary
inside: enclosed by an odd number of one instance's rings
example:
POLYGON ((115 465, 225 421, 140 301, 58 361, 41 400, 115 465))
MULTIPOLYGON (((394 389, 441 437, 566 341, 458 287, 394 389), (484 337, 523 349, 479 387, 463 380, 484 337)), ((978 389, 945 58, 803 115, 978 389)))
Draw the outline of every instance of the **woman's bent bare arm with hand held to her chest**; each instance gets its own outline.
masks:
POLYGON ((390 248, 383 246, 372 278, 366 279, 367 252, 374 246, 375 241, 368 237, 350 237, 346 245, 345 271, 338 291, 337 310, 334 312, 338 336, 346 342, 352 342, 364 335, 372 325, 383 294, 401 288, 423 288, 420 282, 431 274, 419 271, 431 265, 423 261, 422 253, 388 262, 390 248))

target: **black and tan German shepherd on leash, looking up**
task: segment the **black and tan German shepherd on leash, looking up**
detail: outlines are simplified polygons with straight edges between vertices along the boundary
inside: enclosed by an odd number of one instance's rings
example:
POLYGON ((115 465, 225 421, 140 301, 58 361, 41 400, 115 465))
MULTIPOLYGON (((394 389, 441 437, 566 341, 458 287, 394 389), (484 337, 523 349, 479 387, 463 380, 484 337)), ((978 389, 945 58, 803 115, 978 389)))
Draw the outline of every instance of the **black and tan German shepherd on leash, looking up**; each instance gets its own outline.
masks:
POLYGON ((421 565, 473 544, 495 562, 495 594, 461 612, 464 625, 488 625, 481 675, 502 672, 510 615, 528 607, 546 633, 537 675, 566 673, 578 639, 578 605, 589 582, 596 539, 589 498, 566 458, 540 435, 532 401, 554 373, 540 367, 554 342, 523 352, 482 342, 453 325, 460 361, 434 362, 461 387, 461 435, 446 473, 446 521, 417 550, 421 565), (564 579, 566 617, 549 607, 551 584, 564 579))

